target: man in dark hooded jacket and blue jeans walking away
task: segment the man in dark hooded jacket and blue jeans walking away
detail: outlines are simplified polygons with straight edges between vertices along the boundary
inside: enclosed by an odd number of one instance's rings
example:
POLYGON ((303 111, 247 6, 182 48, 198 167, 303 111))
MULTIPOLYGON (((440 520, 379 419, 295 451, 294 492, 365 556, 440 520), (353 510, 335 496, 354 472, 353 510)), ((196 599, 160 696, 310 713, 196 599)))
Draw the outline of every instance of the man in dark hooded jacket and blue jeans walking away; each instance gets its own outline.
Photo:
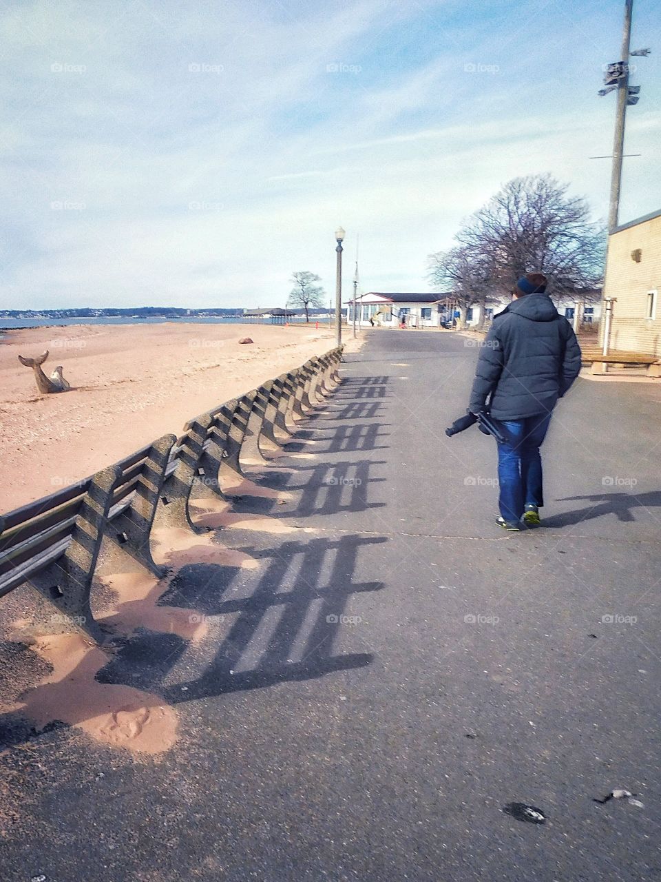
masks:
POLYGON ((498 443, 499 527, 520 530, 540 523, 542 461, 539 447, 553 407, 581 370, 576 334, 546 295, 546 276, 527 273, 512 289, 512 303, 494 316, 472 385, 472 414, 489 410, 501 422, 498 443))

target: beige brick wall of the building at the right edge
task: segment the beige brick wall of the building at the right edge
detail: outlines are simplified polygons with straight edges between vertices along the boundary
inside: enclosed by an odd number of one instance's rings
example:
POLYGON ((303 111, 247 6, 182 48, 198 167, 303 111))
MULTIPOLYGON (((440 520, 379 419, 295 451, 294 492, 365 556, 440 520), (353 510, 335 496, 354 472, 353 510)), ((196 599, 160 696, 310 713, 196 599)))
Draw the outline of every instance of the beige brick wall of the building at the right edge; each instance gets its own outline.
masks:
POLYGON ((610 236, 604 296, 617 297, 610 348, 661 356, 661 212, 610 236), (632 257, 636 250, 639 263, 632 257), (656 318, 646 318, 653 290, 658 292, 656 318))

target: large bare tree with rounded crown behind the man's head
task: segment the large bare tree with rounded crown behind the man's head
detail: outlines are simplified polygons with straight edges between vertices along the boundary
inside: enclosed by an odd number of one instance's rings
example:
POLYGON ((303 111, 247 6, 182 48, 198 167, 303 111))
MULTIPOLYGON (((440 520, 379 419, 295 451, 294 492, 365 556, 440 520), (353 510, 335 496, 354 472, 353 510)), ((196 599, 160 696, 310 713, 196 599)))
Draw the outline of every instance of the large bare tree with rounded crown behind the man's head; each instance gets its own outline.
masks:
POLYGON ((455 239, 454 248, 431 255, 430 278, 451 283, 466 309, 505 294, 524 273, 544 273, 549 294, 576 298, 597 289, 603 273, 605 228, 549 175, 509 181, 455 239))

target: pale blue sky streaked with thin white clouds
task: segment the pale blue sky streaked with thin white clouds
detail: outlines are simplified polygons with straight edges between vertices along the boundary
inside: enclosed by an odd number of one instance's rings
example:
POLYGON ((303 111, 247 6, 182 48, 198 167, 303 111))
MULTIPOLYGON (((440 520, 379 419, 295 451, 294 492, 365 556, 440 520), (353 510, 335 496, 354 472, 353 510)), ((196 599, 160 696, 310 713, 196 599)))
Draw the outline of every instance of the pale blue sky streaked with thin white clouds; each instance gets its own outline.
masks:
MULTIPOLYGON (((614 0, 0 7, 0 309, 284 305, 308 270, 426 291, 503 183, 607 213, 614 0)), ((620 222, 661 209, 661 4, 635 0, 620 222)))

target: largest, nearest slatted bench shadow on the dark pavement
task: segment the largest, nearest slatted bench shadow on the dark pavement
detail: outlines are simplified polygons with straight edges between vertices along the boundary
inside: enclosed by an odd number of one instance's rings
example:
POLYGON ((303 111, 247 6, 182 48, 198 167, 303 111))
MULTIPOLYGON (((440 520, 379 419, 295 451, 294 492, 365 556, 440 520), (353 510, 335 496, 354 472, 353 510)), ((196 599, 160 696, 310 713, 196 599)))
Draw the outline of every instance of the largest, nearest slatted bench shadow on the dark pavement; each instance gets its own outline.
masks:
POLYGON ((387 542, 386 537, 345 535, 283 542, 270 549, 241 548, 268 561, 249 594, 238 571, 228 579, 226 567, 190 564, 173 579, 160 603, 196 609, 197 620, 208 624, 207 639, 216 648, 204 673, 173 682, 188 641, 143 632, 119 648, 97 679, 137 686, 180 704, 365 667, 372 654, 334 654, 333 645, 351 595, 384 587, 382 582, 352 581, 358 549, 380 542, 387 542), (327 570, 328 584, 319 585, 319 573, 327 570))

